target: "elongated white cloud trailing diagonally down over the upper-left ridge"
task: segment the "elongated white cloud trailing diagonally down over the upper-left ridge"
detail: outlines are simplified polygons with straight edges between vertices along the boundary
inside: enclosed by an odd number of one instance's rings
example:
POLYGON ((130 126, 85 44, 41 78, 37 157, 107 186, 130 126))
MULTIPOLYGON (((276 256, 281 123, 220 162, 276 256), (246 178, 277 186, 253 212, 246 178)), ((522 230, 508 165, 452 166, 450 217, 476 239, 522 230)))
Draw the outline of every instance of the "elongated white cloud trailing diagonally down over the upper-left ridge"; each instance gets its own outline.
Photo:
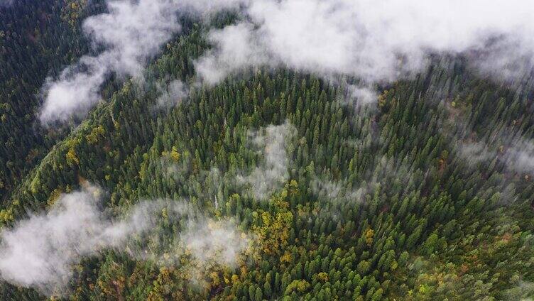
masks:
POLYGON ((179 13, 207 18, 237 5, 234 0, 107 0, 109 12, 83 22, 85 35, 102 52, 85 55, 60 77, 47 80, 40 121, 49 124, 87 114, 99 102, 99 90, 111 74, 142 77, 146 62, 180 32, 179 13))

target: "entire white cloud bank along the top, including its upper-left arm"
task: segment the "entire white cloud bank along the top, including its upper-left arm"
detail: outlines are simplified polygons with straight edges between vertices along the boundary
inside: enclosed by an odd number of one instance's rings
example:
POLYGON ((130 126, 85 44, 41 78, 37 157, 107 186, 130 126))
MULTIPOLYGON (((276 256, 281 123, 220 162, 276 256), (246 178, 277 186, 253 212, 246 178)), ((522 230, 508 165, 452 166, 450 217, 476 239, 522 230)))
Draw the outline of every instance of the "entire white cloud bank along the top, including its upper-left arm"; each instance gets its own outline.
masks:
POLYGON ((206 84, 249 67, 288 67, 355 77, 361 87, 352 91, 367 104, 376 99, 370 85, 415 75, 432 54, 466 55, 476 70, 500 80, 521 80, 534 70, 529 1, 109 0, 107 6, 109 13, 83 23, 104 50, 47 80, 43 124, 87 114, 111 74, 142 77, 146 62, 180 32, 179 13, 206 23, 219 11, 239 11, 240 21, 207 33, 213 48, 195 61, 206 84))

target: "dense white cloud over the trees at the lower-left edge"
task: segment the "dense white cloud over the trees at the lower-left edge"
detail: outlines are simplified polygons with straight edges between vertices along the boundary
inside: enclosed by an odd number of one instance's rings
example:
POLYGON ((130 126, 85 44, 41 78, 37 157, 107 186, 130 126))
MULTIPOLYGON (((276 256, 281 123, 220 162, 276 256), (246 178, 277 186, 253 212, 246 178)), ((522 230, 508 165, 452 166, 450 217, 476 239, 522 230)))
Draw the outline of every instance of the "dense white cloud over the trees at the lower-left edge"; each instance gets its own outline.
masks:
POLYGON ((92 256, 101 246, 119 246, 128 231, 143 227, 128 229, 104 219, 94 193, 90 188, 64 195, 47 214, 31 215, 1 231, 1 278, 51 293, 67 282, 70 266, 80 256, 92 256))

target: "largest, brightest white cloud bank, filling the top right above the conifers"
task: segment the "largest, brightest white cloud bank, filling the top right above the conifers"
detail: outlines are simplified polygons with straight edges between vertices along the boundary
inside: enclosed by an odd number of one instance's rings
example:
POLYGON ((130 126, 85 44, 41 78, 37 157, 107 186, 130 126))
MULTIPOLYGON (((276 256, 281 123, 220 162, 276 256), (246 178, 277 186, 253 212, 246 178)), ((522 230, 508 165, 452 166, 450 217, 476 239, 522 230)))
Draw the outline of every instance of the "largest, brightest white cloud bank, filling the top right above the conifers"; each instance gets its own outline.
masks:
POLYGON ((528 1, 244 0, 241 13, 240 23, 209 33, 214 50, 197 61, 209 83, 256 65, 391 82, 422 70, 432 53, 533 70, 524 60, 534 53, 528 1))

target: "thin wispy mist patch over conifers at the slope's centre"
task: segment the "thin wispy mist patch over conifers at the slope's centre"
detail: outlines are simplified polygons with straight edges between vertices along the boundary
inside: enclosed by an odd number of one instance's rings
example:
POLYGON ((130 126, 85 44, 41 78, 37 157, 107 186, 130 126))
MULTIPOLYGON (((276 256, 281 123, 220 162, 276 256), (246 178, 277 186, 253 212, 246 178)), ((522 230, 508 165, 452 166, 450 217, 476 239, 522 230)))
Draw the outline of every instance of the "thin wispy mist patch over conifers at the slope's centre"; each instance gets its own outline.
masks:
POLYGON ((296 133, 297 129, 289 121, 249 131, 246 147, 257 158, 253 168, 226 172, 217 168, 193 171, 194 158, 189 152, 183 152, 178 161, 165 156, 161 158, 163 176, 187 186, 190 197, 214 202, 216 209, 219 208, 219 202, 222 202, 224 185, 255 199, 266 200, 289 180, 289 168, 293 164, 290 157, 296 133), (195 176, 191 177, 193 173, 195 176))

